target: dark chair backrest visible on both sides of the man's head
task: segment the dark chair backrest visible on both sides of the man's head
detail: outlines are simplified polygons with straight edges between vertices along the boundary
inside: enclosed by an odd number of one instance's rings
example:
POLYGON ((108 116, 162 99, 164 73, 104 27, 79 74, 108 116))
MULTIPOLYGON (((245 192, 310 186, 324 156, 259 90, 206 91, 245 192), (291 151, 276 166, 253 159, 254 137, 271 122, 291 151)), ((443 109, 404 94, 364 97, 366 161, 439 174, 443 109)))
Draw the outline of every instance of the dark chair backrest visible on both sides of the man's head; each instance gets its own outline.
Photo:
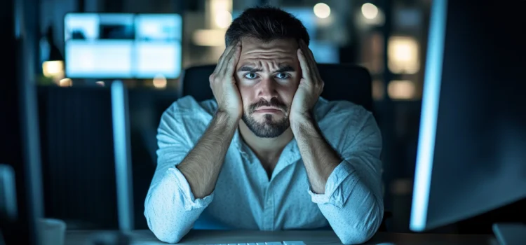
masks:
MULTIPOLYGON (((215 64, 192 66, 181 76, 180 95, 191 95, 197 101, 213 99, 208 77, 215 64)), ((321 97, 328 100, 347 100, 372 111, 371 76, 367 69, 353 64, 318 64, 325 87, 321 97)))

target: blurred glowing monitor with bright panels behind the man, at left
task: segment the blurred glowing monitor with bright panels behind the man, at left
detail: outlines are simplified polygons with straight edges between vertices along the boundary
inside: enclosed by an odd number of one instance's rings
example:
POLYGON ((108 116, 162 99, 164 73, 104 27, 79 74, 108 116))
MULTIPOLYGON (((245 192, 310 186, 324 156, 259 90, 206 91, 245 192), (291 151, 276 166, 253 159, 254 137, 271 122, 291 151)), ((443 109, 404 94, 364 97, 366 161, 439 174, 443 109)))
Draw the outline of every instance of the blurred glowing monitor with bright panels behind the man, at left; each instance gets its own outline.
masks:
POLYGON ((69 78, 180 76, 181 15, 68 13, 64 31, 69 78))

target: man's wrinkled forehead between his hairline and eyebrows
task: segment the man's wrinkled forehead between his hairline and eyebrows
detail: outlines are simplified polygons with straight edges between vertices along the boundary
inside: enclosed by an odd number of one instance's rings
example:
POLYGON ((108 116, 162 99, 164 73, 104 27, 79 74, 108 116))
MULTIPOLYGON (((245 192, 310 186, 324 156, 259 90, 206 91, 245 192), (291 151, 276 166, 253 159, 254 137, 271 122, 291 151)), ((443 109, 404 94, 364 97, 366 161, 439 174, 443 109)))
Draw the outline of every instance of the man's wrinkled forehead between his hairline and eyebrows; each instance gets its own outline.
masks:
POLYGON ((275 62, 294 62, 297 60, 297 41, 294 39, 276 39, 269 42, 255 38, 241 40, 239 63, 262 60, 275 62))

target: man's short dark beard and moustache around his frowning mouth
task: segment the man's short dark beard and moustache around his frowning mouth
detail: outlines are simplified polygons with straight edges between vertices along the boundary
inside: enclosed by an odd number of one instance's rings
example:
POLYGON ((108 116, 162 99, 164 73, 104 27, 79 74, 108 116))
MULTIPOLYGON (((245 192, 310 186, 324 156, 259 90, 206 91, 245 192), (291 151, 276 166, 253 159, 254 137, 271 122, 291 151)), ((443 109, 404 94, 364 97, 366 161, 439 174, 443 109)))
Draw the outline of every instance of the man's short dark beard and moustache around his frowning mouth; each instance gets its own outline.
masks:
POLYGON ((288 107, 276 98, 272 98, 270 102, 262 99, 257 103, 248 106, 248 109, 243 111, 243 123, 247 125, 248 129, 252 131, 259 138, 276 138, 283 134, 290 126, 288 120, 288 107), (263 121, 259 122, 254 118, 254 111, 261 106, 274 106, 283 110, 285 116, 281 120, 274 121, 273 114, 264 114, 263 121))

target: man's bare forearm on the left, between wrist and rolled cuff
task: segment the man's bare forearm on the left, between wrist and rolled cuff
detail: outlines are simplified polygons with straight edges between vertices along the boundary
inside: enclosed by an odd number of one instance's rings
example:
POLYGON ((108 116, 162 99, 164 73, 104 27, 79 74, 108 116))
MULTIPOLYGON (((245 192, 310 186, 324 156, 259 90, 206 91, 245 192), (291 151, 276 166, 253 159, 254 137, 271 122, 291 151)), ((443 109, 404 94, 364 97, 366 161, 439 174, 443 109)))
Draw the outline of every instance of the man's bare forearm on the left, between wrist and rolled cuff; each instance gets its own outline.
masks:
POLYGON ((177 165, 177 169, 187 179, 194 197, 203 198, 213 192, 238 120, 226 113, 215 113, 203 137, 180 165, 177 165))

